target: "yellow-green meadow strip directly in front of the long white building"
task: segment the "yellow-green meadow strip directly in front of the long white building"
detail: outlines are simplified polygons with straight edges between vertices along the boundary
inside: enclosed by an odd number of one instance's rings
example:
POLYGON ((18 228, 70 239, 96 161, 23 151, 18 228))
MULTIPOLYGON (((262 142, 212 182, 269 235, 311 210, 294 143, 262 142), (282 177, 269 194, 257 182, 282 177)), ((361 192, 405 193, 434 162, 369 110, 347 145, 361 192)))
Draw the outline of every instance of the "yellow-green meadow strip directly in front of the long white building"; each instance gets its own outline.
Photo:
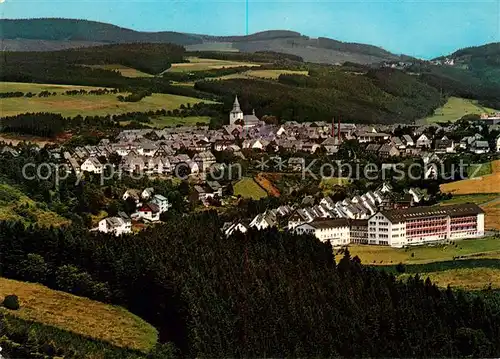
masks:
POLYGON ((452 244, 400 249, 370 245, 350 245, 351 256, 364 264, 421 264, 453 260, 454 257, 500 258, 500 239, 469 239, 452 244))

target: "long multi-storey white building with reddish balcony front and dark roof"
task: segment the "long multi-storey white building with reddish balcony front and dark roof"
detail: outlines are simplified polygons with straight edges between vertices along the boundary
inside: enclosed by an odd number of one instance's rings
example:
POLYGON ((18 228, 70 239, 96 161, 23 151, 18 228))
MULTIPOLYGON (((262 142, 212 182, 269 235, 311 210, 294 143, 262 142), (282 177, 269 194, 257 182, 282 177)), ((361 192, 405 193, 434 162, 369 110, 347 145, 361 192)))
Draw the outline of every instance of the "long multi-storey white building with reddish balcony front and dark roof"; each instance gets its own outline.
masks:
POLYGON ((368 220, 368 244, 404 247, 484 235, 484 211, 465 203, 380 211, 368 220))

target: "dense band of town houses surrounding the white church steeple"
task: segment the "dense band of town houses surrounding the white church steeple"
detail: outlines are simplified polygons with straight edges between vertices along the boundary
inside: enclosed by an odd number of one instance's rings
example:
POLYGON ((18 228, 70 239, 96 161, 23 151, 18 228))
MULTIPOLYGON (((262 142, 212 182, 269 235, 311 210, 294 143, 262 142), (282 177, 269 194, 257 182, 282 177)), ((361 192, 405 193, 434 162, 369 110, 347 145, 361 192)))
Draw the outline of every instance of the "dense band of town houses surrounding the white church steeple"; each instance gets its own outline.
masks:
MULTIPOLYGON (((426 134, 429 127, 438 125, 408 125, 411 135, 395 136, 399 125, 366 126, 324 121, 266 124, 255 113, 244 115, 237 98, 229 118, 229 124, 219 130, 210 130, 207 126, 124 130, 114 142, 103 139, 97 146, 77 147, 71 153, 65 152, 64 158, 77 173, 102 173, 105 170, 103 162, 115 153, 120 156, 120 168, 124 171, 169 175, 182 164, 189 174, 204 178, 208 169, 217 165, 214 151, 230 151, 241 158, 245 158, 243 149, 314 153, 322 148, 326 153, 334 154, 344 140, 356 140, 366 146, 368 153, 383 158, 417 157, 460 150, 476 154, 500 152, 500 137, 490 148, 480 134, 465 137, 459 142, 451 140, 446 134, 440 138, 431 138, 426 134), (188 156, 188 151, 195 155, 188 156)), ((449 135, 454 126, 443 127, 443 131, 449 135)))

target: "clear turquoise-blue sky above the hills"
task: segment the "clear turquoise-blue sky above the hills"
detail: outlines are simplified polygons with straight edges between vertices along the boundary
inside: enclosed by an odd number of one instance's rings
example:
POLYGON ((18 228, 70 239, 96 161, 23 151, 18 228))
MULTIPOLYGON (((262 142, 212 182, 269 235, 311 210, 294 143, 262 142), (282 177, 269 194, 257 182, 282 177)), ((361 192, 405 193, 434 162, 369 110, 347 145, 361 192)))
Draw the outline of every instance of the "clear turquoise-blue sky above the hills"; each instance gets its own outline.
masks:
POLYGON ((210 35, 286 29, 425 59, 500 42, 500 0, 0 0, 0 15, 210 35))

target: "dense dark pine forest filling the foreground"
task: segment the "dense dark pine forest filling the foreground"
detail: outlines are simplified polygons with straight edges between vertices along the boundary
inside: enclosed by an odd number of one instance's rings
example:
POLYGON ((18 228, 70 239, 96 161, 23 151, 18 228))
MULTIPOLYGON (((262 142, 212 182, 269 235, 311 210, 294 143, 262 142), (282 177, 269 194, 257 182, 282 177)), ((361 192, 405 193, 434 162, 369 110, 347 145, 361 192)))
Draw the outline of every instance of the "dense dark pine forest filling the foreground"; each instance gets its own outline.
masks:
POLYGON ((442 290, 418 276, 402 283, 348 252, 334 258, 313 237, 266 231, 225 238, 220 226, 206 213, 114 238, 2 223, 0 270, 123 305, 188 357, 500 351, 494 292, 442 290), (43 260, 33 262, 33 255, 43 260))

